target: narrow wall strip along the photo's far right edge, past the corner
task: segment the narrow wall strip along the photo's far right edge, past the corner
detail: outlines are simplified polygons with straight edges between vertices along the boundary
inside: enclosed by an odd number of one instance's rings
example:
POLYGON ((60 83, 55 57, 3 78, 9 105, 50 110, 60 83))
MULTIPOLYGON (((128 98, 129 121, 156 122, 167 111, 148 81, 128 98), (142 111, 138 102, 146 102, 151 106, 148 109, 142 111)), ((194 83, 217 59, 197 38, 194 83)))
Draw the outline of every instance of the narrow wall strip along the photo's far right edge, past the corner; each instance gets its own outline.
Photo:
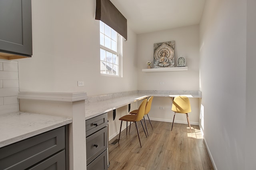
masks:
POLYGON ((247 0, 246 24, 246 142, 245 142, 245 170, 255 169, 256 136, 255 134, 255 96, 256 96, 256 1, 247 0))

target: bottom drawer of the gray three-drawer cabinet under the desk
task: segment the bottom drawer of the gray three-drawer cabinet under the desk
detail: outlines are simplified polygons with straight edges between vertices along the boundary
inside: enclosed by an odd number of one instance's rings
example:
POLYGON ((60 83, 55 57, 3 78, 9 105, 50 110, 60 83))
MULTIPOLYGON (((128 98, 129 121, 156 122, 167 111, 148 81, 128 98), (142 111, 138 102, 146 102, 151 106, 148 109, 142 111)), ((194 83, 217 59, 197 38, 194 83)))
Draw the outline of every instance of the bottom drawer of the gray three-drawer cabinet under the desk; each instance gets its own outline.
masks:
POLYGON ((87 170, 107 170, 108 169, 108 152, 105 150, 98 158, 92 161, 86 168, 87 170))

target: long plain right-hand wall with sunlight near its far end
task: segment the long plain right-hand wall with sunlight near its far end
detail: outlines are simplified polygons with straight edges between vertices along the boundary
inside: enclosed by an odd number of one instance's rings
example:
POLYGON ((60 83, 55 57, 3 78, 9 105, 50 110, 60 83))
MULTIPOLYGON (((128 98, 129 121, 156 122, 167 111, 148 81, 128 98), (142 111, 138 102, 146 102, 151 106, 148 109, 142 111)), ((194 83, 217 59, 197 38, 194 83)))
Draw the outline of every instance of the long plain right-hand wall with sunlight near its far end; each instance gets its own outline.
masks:
POLYGON ((243 170, 246 138, 244 0, 205 1, 200 22, 200 78, 204 106, 202 128, 214 166, 218 170, 243 170))

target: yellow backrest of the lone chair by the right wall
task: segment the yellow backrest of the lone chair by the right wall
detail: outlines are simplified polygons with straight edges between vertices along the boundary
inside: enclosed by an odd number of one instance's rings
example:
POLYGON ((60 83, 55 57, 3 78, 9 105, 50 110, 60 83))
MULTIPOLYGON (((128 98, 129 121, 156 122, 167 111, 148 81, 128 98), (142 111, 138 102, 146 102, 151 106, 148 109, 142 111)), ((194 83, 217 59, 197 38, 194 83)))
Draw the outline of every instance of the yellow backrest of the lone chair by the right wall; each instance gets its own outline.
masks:
POLYGON ((176 113, 191 112, 190 101, 186 96, 176 96, 172 102, 172 111, 176 113))

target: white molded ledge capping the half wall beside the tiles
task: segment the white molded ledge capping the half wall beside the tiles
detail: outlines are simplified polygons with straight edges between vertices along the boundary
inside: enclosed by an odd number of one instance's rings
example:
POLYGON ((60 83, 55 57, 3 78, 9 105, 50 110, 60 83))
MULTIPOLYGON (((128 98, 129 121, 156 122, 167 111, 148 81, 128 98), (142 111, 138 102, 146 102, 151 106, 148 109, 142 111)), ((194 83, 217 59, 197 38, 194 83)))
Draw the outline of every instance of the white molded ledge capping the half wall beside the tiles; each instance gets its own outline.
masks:
POLYGON ((76 102, 86 100, 86 92, 19 92, 19 99, 76 102))

